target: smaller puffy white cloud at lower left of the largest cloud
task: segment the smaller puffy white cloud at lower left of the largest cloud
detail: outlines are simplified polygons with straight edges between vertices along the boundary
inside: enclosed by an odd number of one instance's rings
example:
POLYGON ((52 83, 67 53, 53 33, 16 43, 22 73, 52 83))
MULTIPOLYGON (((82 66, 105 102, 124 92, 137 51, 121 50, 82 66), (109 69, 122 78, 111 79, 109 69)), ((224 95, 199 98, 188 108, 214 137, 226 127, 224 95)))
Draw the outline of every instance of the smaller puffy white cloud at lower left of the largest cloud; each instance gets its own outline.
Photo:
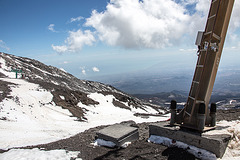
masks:
POLYGON ((65 40, 65 45, 52 45, 53 50, 57 52, 77 52, 82 49, 84 45, 91 46, 95 42, 95 37, 90 30, 82 32, 80 29, 76 32, 70 31, 69 37, 65 40))

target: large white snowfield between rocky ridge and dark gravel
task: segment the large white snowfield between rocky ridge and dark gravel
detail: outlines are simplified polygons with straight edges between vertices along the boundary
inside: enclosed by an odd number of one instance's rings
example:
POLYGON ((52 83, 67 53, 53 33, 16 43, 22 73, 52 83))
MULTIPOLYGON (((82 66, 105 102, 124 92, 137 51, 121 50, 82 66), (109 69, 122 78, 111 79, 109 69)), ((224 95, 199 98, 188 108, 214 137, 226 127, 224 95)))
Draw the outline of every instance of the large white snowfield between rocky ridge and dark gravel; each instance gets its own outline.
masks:
POLYGON ((77 118, 71 117, 72 114, 68 110, 56 106, 52 102, 51 92, 39 85, 22 79, 0 80, 16 84, 10 86, 13 98, 0 102, 0 149, 49 143, 99 125, 127 120, 154 122, 167 120, 170 116, 149 119, 135 117, 134 112, 115 107, 112 104, 113 96, 92 93, 89 97, 100 104, 86 106, 79 103, 80 107, 89 109, 85 115, 88 121, 79 122, 76 121, 77 118))

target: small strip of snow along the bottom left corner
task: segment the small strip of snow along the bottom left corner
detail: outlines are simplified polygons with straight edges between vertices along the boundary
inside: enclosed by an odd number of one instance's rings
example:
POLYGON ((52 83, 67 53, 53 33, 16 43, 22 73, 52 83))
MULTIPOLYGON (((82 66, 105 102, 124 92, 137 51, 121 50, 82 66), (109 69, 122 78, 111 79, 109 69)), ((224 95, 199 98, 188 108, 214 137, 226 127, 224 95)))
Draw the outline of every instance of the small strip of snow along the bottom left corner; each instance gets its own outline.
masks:
POLYGON ((44 151, 38 148, 34 149, 11 149, 8 152, 0 154, 1 160, 81 160, 77 158, 79 152, 69 152, 66 150, 44 151))

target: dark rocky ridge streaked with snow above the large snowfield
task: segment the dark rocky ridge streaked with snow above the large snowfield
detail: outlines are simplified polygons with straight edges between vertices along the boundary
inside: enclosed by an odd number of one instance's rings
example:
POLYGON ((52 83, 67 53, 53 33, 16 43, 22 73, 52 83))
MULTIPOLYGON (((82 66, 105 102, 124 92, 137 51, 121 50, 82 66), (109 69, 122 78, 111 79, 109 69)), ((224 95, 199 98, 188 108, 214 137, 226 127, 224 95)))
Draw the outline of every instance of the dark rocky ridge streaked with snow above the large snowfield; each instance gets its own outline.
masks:
POLYGON ((5 53, 0 53, 0 56, 2 66, 0 76, 2 78, 15 78, 15 72, 10 71, 13 69, 21 70, 22 73, 18 73, 18 78, 22 76, 26 81, 39 84, 42 88, 51 91, 53 101, 56 105, 69 109, 80 120, 84 118, 84 111, 79 107, 77 108, 79 110, 72 108, 76 108, 79 102, 84 105, 99 104, 98 100, 93 100, 88 96, 96 92, 105 96, 112 95, 114 97, 113 104, 120 108, 131 110, 131 107, 133 107, 145 110, 144 108, 151 107, 158 112, 159 106, 143 103, 139 99, 131 97, 110 85, 80 80, 63 70, 44 65, 39 61, 29 58, 17 57, 5 53), (64 97, 64 99, 61 97, 64 97))

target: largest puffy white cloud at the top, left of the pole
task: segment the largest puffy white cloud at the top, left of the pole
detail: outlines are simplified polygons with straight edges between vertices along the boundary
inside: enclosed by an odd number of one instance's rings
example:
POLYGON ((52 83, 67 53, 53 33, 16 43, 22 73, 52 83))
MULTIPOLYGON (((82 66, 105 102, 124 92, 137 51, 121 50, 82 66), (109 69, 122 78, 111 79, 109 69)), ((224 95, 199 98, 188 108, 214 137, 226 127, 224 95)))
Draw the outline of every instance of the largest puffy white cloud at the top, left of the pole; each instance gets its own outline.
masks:
POLYGON ((124 48, 170 46, 188 30, 187 10, 171 0, 111 0, 104 12, 92 12, 86 25, 99 39, 124 48))

